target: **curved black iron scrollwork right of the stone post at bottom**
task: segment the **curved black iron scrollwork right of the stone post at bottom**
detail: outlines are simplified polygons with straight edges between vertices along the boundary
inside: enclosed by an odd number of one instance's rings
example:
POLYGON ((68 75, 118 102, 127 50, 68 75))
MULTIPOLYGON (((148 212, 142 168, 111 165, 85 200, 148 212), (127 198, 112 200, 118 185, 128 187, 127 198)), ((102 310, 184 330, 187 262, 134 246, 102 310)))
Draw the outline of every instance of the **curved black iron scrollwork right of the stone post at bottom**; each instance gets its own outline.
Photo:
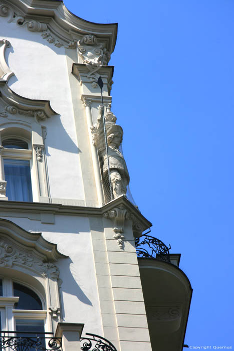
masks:
POLYGON ((90 335, 92 338, 80 338, 82 351, 117 351, 115 346, 104 337, 90 333, 86 333, 86 335, 90 335))

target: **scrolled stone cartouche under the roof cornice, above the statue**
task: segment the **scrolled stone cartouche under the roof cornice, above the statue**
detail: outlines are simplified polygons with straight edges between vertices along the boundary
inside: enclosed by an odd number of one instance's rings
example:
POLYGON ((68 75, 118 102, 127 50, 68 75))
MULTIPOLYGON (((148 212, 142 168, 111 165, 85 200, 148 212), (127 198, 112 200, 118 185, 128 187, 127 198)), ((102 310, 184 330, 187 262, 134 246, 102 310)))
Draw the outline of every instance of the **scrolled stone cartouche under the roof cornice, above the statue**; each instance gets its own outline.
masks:
POLYGON ((109 51, 91 34, 85 35, 78 41, 78 54, 84 64, 107 65, 110 61, 109 51))

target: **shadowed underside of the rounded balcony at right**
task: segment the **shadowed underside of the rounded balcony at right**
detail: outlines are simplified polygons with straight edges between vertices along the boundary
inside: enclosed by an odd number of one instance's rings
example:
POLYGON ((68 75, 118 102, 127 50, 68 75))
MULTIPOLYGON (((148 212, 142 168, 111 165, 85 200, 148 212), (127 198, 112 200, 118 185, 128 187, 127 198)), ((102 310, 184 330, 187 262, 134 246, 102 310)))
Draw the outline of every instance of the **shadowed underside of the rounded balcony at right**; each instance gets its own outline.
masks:
MULTIPOLYGON (((170 255, 171 262, 173 256, 170 255)), ((176 265, 138 259, 153 351, 181 351, 192 288, 176 265)))

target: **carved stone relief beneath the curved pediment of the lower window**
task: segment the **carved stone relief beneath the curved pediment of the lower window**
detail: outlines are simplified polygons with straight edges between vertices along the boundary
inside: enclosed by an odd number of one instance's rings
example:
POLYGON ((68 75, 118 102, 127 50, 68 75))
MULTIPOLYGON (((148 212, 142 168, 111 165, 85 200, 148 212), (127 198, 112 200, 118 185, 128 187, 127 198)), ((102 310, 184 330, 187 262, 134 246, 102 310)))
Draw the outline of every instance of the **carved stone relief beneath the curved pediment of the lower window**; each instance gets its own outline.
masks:
POLYGON ((0 266, 13 267, 15 265, 30 268, 44 277, 59 278, 59 268, 53 263, 45 263, 30 253, 21 252, 12 244, 0 241, 0 266))

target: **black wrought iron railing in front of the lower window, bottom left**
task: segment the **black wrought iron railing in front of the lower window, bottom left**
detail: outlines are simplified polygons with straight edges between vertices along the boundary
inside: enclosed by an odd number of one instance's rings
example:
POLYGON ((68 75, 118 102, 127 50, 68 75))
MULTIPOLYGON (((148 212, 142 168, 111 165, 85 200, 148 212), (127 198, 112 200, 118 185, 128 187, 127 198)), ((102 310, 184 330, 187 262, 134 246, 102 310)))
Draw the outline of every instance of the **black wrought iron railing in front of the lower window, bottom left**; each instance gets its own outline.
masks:
POLYGON ((53 337, 53 333, 0 330, 0 335, 1 350, 62 351, 62 338, 53 337))

